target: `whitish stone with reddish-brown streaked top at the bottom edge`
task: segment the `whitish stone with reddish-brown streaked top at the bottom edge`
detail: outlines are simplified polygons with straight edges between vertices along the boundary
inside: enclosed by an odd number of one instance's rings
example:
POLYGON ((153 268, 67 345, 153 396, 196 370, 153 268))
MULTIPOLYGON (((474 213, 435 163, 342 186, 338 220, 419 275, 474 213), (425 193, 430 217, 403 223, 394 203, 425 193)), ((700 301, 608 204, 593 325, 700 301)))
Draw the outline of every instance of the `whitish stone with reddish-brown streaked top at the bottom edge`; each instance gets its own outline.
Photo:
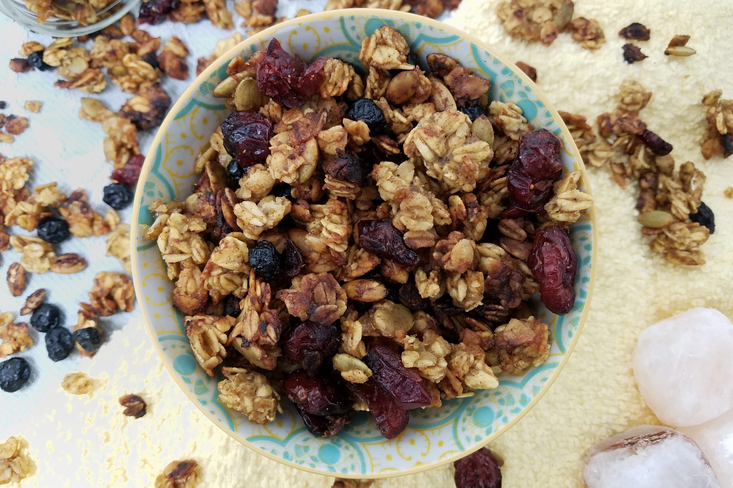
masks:
POLYGON ((583 465, 588 488, 721 488, 694 440, 642 425, 602 440, 583 465))

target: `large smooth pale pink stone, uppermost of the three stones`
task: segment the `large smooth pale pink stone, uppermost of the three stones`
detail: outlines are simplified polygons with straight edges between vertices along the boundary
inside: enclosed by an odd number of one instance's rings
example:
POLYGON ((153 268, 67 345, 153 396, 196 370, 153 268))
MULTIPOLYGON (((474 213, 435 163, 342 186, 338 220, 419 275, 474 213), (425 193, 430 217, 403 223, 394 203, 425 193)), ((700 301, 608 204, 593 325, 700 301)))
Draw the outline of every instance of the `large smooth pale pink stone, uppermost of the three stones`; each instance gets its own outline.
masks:
POLYGON ((633 355, 639 391, 664 424, 704 424, 733 408, 733 324, 694 308, 639 334, 633 355))

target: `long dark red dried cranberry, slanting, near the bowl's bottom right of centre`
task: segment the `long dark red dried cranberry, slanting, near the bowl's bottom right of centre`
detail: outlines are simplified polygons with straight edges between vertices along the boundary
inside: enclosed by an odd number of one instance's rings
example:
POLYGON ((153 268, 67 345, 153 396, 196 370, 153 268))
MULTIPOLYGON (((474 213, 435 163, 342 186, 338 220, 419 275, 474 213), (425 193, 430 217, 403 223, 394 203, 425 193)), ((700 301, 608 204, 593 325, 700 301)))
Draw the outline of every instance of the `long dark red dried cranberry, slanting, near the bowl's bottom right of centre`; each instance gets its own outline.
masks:
POLYGON ((372 379, 394 398, 399 408, 411 410, 432 404, 420 375, 402 365, 399 354, 386 340, 370 341, 364 362, 372 369, 372 379))

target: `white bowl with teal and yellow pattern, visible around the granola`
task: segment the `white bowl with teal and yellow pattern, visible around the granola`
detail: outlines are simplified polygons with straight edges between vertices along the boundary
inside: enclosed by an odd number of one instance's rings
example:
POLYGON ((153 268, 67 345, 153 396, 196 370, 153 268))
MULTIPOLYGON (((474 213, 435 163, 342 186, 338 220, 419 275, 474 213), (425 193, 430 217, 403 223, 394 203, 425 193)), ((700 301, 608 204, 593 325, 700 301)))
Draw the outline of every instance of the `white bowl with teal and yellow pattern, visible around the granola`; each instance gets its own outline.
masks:
MULTIPOLYGON (((383 24, 401 31, 423 64, 427 54, 445 53, 490 78, 490 100, 515 102, 533 127, 545 127, 561 138, 562 160, 567 170, 583 169, 570 134, 556 111, 540 100, 542 96, 534 84, 478 41, 416 15, 386 10, 324 12, 274 26, 243 42, 202 73, 183 94, 148 154, 136 198, 138 223, 152 223, 147 206, 153 199, 183 200, 191 194, 191 186, 198 179, 193 170, 196 154, 229 113, 223 100, 213 97, 213 89, 226 78, 226 65, 232 57, 240 52, 249 56, 277 37, 286 50, 303 59, 338 57, 358 65, 361 40, 383 24)), ((264 426, 227 410, 218 401, 219 378, 207 377, 191 354, 183 331, 183 316, 172 306, 173 285, 166 277, 158 247, 155 241, 141 240, 139 229, 133 230, 133 274, 147 325, 163 362, 188 397, 221 429, 262 454, 296 468, 344 477, 394 476, 450 462, 483 446, 511 427, 550 386, 575 345, 587 311, 594 255, 591 215, 570 229, 579 258, 575 307, 558 317, 539 300, 536 303, 539 318, 550 324, 552 333, 548 361, 524 375, 502 376, 500 386, 494 390, 444 402, 441 408, 412 410, 408 429, 393 440, 383 438, 364 412, 357 413, 339 435, 316 438, 303 427, 289 402, 284 402, 285 411, 276 421, 264 426)))

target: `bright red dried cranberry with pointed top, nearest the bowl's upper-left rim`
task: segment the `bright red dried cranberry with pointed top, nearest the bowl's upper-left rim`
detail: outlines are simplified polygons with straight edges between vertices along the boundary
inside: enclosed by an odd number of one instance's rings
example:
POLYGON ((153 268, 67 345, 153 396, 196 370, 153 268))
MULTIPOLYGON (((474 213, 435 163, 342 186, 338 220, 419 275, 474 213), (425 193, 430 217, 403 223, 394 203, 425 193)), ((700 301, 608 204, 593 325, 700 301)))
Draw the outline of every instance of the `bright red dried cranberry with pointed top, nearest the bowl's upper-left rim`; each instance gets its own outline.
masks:
POLYGON ((257 60, 257 86, 281 105, 300 107, 323 83, 324 64, 325 58, 318 58, 308 66, 286 53, 279 40, 273 39, 268 44, 265 56, 257 60))

